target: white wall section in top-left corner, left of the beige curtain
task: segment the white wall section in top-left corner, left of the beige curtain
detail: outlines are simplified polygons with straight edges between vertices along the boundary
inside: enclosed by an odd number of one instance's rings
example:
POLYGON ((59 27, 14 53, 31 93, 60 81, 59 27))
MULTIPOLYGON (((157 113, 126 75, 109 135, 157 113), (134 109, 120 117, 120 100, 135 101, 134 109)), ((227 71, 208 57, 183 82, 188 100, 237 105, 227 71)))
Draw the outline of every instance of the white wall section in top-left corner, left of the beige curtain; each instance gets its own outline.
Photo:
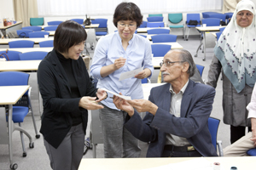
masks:
POLYGON ((1 10, 0 19, 3 17, 9 18, 9 20, 15 19, 14 4, 12 0, 0 0, 1 10))

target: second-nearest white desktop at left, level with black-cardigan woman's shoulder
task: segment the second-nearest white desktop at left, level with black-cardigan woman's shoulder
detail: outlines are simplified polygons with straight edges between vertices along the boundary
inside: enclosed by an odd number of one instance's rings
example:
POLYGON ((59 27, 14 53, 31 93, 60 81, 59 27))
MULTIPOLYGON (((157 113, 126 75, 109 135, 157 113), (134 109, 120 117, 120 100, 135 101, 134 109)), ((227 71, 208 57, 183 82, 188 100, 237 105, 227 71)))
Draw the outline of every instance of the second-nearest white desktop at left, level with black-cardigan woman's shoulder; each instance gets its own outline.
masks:
POLYGON ((38 71, 40 62, 41 60, 2 61, 0 71, 38 71))

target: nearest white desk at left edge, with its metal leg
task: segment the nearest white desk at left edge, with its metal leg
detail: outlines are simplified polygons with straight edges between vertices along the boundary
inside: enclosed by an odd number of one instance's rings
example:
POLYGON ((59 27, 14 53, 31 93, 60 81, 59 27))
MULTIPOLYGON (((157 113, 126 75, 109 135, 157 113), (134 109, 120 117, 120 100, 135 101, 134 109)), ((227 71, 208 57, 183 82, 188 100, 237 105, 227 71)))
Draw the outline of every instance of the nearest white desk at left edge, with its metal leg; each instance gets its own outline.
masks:
MULTIPOLYGON (((29 86, 1 86, 0 87, 0 105, 9 105, 9 115, 8 115, 8 144, 9 144, 9 161, 10 161, 10 166, 15 166, 15 163, 13 163, 13 151, 12 151, 12 133, 14 130, 19 130, 23 133, 26 133, 26 131, 21 128, 21 127, 14 127, 13 125, 13 105, 15 105, 17 103, 17 101, 21 98, 21 96, 23 94, 26 93, 26 91, 28 90, 29 86)), ((0 121, 4 123, 6 122, 5 119, 5 111, 3 112, 3 114, 1 114, 1 119, 0 121)), ((1 131, 4 130, 6 132, 6 127, 1 129, 1 131)), ((33 143, 32 143, 32 138, 31 136, 26 133, 26 136, 29 138, 30 140, 30 146, 33 147, 33 143), (32 144, 32 145, 31 145, 32 144)), ((6 143, 4 143, 6 144, 6 143)), ((31 147, 31 148, 32 148, 31 147)))

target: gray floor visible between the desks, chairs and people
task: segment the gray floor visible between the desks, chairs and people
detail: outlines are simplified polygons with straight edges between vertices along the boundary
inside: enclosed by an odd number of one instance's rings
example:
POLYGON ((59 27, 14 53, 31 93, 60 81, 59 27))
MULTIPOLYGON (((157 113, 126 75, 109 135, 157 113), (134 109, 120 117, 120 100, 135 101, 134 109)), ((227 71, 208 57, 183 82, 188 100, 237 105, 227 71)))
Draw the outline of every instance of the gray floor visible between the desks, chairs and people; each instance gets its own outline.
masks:
MULTIPOLYGON (((183 41, 182 37, 177 38, 177 42, 179 42, 184 49, 189 50, 189 52, 195 56, 196 49, 200 45, 200 37, 189 37, 189 41, 183 41)), ((88 45, 88 44, 87 44, 88 45)), ((208 67, 211 63, 212 55, 213 55, 213 47, 215 45, 215 37, 212 36, 212 34, 207 34, 207 59, 206 61, 203 61, 203 53, 201 51, 199 52, 198 56, 195 59, 195 64, 204 65, 205 69, 202 74, 202 78, 207 82, 207 72, 208 67)), ((93 56, 93 50, 91 50, 88 47, 88 50, 90 52, 90 57, 93 56)), ((39 129, 40 127, 40 116, 39 116, 39 109, 38 109, 38 85, 37 85, 37 77, 36 72, 30 73, 30 85, 32 86, 32 106, 34 109, 34 113, 36 115, 36 123, 37 127, 39 129)), ((154 76, 152 77, 154 82, 156 81, 156 77, 158 75, 158 71, 154 72, 154 76)), ((216 88, 216 96, 213 103, 213 110, 212 110, 212 117, 216 117, 221 120, 219 128, 218 128, 218 140, 222 140, 223 147, 230 144, 230 127, 228 125, 225 125, 222 122, 223 117, 223 111, 222 111, 222 82, 218 81, 218 86, 216 88)), ((89 122, 90 122, 89 117, 89 122)), ((25 136, 25 142, 26 142, 26 157, 22 157, 22 149, 21 149, 21 143, 20 143, 20 134, 18 132, 13 133, 13 160, 15 163, 18 164, 18 169, 20 170, 48 170, 49 167, 49 157, 46 154, 46 151, 44 149, 44 143, 43 143, 43 136, 41 135, 40 139, 35 138, 35 132, 32 125, 32 117, 26 116, 25 121, 22 123, 22 127, 26 129, 28 133, 32 135, 32 139, 34 141, 34 148, 29 149, 28 147, 28 139, 25 136)), ((89 126, 90 127, 90 124, 89 126)), ((90 128, 87 130, 87 134, 90 132, 90 128)), ((88 135, 86 135, 88 137, 88 135)), ((143 142, 140 143, 140 146, 142 148, 142 154, 141 157, 146 156, 146 151, 148 148, 148 144, 145 144, 143 142)), ((87 153, 84 155, 84 158, 92 158, 93 153, 92 150, 88 150, 87 153)), ((97 144, 96 145, 96 157, 97 158, 103 158, 103 144, 97 144)), ((0 169, 6 170, 9 169, 9 149, 7 144, 0 144, 0 169)))

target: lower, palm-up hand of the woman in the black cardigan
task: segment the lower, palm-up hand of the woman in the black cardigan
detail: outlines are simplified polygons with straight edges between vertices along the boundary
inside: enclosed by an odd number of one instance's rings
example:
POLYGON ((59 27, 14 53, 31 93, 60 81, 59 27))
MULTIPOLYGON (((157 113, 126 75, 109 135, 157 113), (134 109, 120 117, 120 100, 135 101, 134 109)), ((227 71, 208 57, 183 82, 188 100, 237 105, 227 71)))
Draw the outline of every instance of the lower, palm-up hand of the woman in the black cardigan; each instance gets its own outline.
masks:
POLYGON ((103 105, 98 105, 96 102, 96 97, 84 96, 79 101, 79 107, 83 107, 87 110, 97 110, 103 109, 103 105))

